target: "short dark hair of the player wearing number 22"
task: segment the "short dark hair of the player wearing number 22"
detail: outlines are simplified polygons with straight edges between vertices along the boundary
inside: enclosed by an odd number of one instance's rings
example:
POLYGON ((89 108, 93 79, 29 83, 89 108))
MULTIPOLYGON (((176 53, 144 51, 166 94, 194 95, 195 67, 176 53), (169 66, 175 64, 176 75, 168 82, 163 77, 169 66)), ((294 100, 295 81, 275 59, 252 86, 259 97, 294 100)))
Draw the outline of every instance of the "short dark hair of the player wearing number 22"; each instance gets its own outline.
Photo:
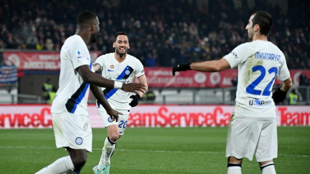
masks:
POLYGON ((258 24, 260 34, 267 36, 272 27, 271 15, 267 11, 257 11, 253 15, 255 16, 252 19, 252 27, 254 27, 255 24, 258 24))

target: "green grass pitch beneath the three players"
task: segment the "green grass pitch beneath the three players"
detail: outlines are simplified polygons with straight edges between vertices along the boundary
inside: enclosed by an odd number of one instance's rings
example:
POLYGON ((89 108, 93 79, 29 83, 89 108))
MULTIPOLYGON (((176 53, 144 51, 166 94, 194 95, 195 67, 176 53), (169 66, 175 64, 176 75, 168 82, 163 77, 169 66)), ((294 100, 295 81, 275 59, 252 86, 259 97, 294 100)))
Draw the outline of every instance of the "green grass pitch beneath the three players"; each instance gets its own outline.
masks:
MULTIPOLYGON (((111 158, 110 173, 226 173, 227 127, 126 128, 111 158)), ((92 173, 100 160, 104 129, 93 129, 93 152, 81 174, 92 173)), ((0 130, 0 173, 35 173, 68 155, 56 149, 52 129, 0 130)), ((310 127, 278 127, 277 173, 310 173, 310 127)), ((259 165, 244 159, 242 173, 260 174, 259 165)))

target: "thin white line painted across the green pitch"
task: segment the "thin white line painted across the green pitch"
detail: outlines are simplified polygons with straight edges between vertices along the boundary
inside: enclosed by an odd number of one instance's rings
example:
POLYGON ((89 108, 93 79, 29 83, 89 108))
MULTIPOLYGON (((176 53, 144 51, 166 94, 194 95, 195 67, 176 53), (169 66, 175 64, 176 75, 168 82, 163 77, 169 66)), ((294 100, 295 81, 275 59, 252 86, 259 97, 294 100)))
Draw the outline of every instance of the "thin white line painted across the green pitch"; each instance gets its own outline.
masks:
MULTIPOLYGON (((0 146, 0 149, 56 149, 56 147, 0 146)), ((102 150, 102 149, 101 148, 93 148, 93 150, 102 150)), ((128 152, 224 154, 224 152, 209 152, 209 151, 184 152, 184 151, 174 151, 174 150, 132 150, 132 149, 115 149, 115 150, 117 150, 117 151, 128 151, 128 152)), ((305 158, 310 157, 310 155, 294 155, 294 154, 278 154, 278 156, 292 156, 292 157, 305 157, 305 158)))

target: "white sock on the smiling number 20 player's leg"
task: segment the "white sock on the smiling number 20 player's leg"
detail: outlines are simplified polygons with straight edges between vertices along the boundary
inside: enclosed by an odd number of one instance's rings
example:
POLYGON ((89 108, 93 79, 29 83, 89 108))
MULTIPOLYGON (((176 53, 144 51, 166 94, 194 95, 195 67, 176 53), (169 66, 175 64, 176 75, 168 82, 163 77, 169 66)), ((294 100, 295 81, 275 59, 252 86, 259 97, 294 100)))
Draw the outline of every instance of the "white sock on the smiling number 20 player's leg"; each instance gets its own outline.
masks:
POLYGON ((104 141, 104 146, 102 149, 101 158, 98 164, 98 169, 101 170, 102 164, 110 164, 111 154, 115 148, 115 143, 110 140, 110 138, 106 138, 104 141))

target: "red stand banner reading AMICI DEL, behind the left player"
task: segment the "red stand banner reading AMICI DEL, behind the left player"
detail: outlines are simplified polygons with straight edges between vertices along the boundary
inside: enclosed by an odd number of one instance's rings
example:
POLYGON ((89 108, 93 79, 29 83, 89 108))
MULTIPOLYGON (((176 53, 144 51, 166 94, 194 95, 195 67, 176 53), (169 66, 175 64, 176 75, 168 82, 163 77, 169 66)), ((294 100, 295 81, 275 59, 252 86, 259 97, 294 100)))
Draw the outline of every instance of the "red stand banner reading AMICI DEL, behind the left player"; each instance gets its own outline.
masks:
MULTIPOLYGON (((4 63, 15 65, 18 70, 60 70, 60 52, 4 51, 4 63)), ((96 59, 99 52, 91 52, 96 59)))

